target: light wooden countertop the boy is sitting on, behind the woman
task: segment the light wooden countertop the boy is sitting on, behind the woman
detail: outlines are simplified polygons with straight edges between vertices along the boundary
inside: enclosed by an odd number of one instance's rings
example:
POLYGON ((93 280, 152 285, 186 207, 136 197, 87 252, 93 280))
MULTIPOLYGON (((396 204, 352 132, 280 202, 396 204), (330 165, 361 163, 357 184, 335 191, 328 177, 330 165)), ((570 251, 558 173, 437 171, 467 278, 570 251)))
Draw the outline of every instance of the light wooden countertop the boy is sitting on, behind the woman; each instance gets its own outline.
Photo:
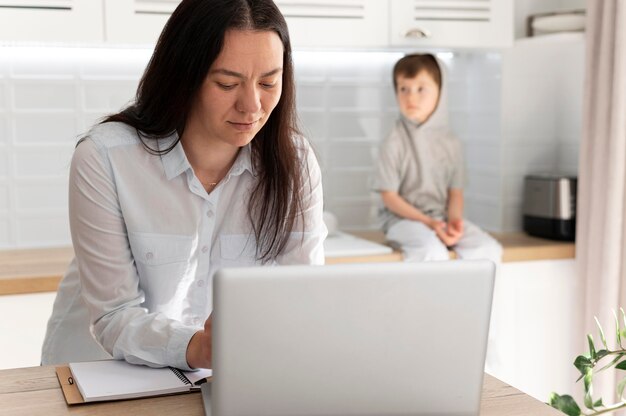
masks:
MULTIPOLYGON (((380 231, 352 234, 378 243, 385 243, 380 231)), ((504 248, 503 261, 572 259, 573 243, 530 237, 523 233, 493 234, 504 248)), ((71 247, 24 250, 0 250, 0 295, 54 292, 63 277, 74 252, 71 247)), ((454 253, 451 253, 454 258, 454 253)), ((329 258, 327 264, 401 261, 402 254, 365 257, 329 258)))

